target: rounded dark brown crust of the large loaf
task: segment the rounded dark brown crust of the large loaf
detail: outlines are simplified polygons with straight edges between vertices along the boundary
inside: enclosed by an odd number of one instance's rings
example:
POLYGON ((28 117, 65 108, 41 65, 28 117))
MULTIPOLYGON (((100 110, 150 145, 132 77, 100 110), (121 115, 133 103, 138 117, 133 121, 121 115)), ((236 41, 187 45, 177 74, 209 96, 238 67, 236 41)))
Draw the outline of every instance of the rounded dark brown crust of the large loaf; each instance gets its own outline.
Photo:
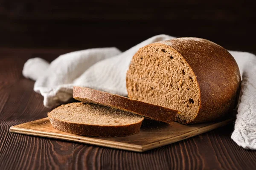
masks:
POLYGON ((198 82, 198 114, 192 122, 181 123, 210 122, 231 113, 237 104, 241 77, 235 59, 225 48, 199 38, 177 38, 151 45, 157 44, 166 45, 181 54, 198 82))

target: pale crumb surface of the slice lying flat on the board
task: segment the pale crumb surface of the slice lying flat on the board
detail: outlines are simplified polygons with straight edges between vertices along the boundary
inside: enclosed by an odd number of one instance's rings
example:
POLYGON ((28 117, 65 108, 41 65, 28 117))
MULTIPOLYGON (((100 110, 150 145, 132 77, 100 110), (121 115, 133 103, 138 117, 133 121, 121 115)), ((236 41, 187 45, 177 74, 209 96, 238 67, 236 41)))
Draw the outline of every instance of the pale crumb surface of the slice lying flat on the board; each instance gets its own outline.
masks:
POLYGON ((130 112, 81 102, 61 105, 49 116, 63 122, 101 126, 130 125, 143 120, 142 116, 130 112))

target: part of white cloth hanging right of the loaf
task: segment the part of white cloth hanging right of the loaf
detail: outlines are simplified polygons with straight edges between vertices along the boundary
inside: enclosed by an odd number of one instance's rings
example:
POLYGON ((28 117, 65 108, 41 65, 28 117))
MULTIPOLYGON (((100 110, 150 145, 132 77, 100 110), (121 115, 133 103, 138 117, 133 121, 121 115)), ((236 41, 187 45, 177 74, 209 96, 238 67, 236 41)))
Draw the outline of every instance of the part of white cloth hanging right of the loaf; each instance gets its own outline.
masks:
POLYGON ((235 129, 231 135, 236 144, 245 149, 256 149, 256 57, 246 52, 236 52, 242 82, 236 115, 235 129))

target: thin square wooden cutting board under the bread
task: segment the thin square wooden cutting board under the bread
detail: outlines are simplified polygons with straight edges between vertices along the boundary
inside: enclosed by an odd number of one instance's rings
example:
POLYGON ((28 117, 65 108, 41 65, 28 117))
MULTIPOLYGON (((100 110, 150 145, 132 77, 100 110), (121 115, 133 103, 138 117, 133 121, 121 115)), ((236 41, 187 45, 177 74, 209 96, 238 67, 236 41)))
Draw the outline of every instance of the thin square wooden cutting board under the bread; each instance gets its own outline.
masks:
POLYGON ((168 125, 152 120, 144 120, 140 133, 125 137, 92 137, 62 132, 52 127, 49 118, 39 119, 10 127, 10 132, 26 135, 62 139, 85 144, 94 144, 116 149, 144 152, 166 144, 178 142, 192 136, 233 122, 227 119, 221 122, 201 123, 195 125, 181 125, 177 122, 168 125))

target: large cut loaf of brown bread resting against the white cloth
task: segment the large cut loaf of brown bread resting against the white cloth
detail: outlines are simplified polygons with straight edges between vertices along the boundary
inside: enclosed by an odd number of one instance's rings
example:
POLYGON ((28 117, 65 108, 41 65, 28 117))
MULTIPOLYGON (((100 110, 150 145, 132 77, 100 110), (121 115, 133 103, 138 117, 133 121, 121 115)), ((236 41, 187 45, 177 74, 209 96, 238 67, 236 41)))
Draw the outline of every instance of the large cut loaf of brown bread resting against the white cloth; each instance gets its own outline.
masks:
POLYGON ((241 77, 214 42, 177 38, 140 48, 126 77, 128 97, 180 111, 183 124, 221 119, 236 106, 241 77))

